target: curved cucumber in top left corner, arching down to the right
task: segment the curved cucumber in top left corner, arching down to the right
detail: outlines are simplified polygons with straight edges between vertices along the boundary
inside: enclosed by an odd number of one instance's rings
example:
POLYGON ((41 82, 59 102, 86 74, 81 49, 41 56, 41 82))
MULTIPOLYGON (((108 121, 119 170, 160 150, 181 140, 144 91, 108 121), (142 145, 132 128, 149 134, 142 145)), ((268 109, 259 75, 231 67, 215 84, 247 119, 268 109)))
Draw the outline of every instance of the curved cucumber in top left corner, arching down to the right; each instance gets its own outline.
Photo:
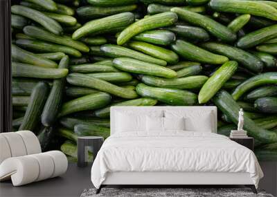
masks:
POLYGON ((42 12, 19 5, 12 6, 11 11, 12 14, 21 15, 36 21, 38 24, 41 24, 44 28, 46 28, 46 30, 53 32, 55 35, 62 34, 62 26, 60 26, 60 24, 54 19, 44 15, 42 12))

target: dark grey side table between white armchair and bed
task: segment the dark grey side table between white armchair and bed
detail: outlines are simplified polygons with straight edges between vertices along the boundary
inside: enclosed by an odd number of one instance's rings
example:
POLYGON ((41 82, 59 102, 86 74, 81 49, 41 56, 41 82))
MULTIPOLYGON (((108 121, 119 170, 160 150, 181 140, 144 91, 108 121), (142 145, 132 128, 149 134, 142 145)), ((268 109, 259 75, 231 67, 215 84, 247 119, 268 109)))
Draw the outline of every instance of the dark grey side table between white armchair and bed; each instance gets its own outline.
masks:
MULTIPOLYGON (((100 150, 104 138, 100 136, 84 136, 78 137, 78 167, 85 167, 87 165, 87 147, 92 147, 93 160, 96 158, 98 151, 100 150)), ((92 161, 93 162, 93 161, 92 161)))

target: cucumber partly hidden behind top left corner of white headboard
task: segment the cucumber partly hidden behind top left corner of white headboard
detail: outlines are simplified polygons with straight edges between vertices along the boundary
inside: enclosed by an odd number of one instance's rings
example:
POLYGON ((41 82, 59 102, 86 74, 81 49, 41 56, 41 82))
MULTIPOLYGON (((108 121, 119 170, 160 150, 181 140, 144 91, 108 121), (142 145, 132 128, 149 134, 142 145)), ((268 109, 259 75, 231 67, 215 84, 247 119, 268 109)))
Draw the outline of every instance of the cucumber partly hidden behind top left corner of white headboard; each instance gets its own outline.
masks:
MULTIPOLYGON (((123 102, 116 102, 111 104, 111 106, 154 106, 157 104, 157 100, 153 100, 151 98, 139 98, 135 100, 127 100, 123 102)), ((103 109, 98 109, 93 112, 98 118, 109 118, 109 110, 111 106, 107 106, 103 109)))

